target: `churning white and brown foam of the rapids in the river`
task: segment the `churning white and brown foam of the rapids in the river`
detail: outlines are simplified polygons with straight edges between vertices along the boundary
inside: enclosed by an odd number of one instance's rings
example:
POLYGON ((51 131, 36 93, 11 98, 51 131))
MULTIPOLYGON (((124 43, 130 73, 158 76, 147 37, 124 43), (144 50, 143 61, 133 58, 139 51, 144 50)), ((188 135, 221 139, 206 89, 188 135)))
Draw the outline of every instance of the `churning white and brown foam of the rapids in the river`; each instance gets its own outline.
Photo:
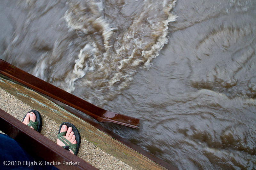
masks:
MULTIPOLYGON (((73 65, 73 70, 68 73, 63 72, 66 74, 65 81, 53 80, 51 83, 68 92, 74 92, 76 85, 84 86, 84 89, 92 88, 91 91, 86 91, 85 99, 91 102, 97 101, 98 105, 104 104, 106 100, 113 98, 129 86, 139 67, 150 68, 151 60, 156 58, 164 44, 168 42, 168 24, 176 19, 176 16, 171 13, 175 2, 165 0, 159 3, 145 0, 135 14, 125 16, 132 17, 131 24, 125 25, 125 23, 111 22, 111 18, 105 14, 108 8, 106 2, 69 1, 68 10, 64 15, 69 28, 68 32, 76 33, 76 40, 81 41, 80 46, 84 45, 76 56, 71 49, 75 48, 77 51, 78 47, 74 45, 67 47, 74 56, 74 58, 71 56, 68 58, 68 61, 73 63, 67 63, 70 67, 73 65)), ((118 18, 118 15, 123 15, 122 8, 129 2, 116 3, 123 3, 119 6, 119 13, 116 14, 118 18)), ((61 44, 55 43, 55 45, 53 51, 58 51, 61 44)), ((58 70, 44 68, 45 63, 49 62, 42 60, 54 58, 56 61, 56 58, 59 58, 63 62, 63 58, 59 54, 56 54, 59 57, 53 57, 53 53, 47 53, 47 55, 52 56, 42 55, 32 73, 48 80, 43 72, 58 70)), ((56 61, 52 67, 56 67, 58 63, 56 61)), ((58 74, 63 76, 62 73, 58 74)))

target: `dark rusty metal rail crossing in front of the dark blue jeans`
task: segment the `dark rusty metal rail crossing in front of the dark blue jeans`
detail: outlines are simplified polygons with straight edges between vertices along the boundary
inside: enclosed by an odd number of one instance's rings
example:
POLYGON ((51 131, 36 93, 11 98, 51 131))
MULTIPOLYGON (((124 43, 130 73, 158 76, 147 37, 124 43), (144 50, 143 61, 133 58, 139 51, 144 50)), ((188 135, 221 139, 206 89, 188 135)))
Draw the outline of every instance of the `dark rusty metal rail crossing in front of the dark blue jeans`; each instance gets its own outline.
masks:
POLYGON ((54 166, 59 169, 97 169, 76 155, 70 154, 67 150, 44 137, 36 130, 29 128, 2 109, 0 109, 0 130, 19 142, 25 150, 34 152, 34 154, 48 162, 56 162, 54 166), (72 165, 72 162, 74 165, 72 165))

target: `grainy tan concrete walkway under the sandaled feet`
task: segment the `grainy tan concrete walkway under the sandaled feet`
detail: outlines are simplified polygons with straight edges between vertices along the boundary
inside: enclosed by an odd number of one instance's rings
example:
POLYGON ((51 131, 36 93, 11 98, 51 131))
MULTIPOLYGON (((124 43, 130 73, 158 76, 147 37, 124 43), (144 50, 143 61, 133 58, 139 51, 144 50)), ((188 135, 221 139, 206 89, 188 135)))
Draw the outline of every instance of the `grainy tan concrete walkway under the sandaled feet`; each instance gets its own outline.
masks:
MULTIPOLYGON (((28 111, 34 110, 32 107, 18 100, 1 88, 0 108, 20 121, 22 121, 24 115, 28 111)), ((56 142, 60 124, 56 123, 45 115, 41 114, 41 116, 43 124, 41 134, 56 142)), ((116 159, 112 155, 104 152, 83 138, 81 139, 81 145, 77 156, 99 169, 133 169, 121 160, 116 159)))

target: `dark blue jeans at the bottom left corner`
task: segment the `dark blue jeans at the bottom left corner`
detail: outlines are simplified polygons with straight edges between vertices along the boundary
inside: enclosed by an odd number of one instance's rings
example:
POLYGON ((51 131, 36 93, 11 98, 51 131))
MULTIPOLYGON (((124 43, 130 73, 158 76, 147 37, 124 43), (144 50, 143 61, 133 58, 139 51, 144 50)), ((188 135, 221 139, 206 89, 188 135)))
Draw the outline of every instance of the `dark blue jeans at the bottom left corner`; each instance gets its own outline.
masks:
MULTIPOLYGON (((32 150, 33 148, 31 148, 32 150)), ((18 142, 11 137, 0 134, 0 169, 49 169, 54 166, 44 166, 45 160, 37 155, 26 152, 18 142)))

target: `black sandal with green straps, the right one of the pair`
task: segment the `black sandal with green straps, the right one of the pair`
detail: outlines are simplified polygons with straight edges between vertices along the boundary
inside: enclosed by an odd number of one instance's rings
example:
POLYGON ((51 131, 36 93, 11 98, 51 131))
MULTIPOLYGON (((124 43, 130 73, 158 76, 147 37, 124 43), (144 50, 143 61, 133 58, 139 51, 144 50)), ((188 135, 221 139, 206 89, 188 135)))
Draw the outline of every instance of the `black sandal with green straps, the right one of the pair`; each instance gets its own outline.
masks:
POLYGON ((71 123, 69 122, 63 122, 61 123, 60 125, 60 129, 59 129, 59 132, 58 132, 58 139, 60 139, 61 142, 63 142, 64 144, 66 144, 65 146, 62 146, 64 149, 67 149, 67 150, 71 150, 74 152, 75 155, 77 155, 77 152, 80 148, 80 143, 81 143, 81 136, 80 136, 80 133, 78 131, 78 129, 71 123), (62 125, 67 125, 67 127, 71 127, 72 128, 72 131, 74 132, 74 135, 76 137, 76 144, 72 144, 71 142, 68 141, 68 139, 66 139, 65 137, 63 136, 66 136, 66 133, 67 131, 65 132, 61 132, 60 133, 60 129, 62 127, 62 125))

